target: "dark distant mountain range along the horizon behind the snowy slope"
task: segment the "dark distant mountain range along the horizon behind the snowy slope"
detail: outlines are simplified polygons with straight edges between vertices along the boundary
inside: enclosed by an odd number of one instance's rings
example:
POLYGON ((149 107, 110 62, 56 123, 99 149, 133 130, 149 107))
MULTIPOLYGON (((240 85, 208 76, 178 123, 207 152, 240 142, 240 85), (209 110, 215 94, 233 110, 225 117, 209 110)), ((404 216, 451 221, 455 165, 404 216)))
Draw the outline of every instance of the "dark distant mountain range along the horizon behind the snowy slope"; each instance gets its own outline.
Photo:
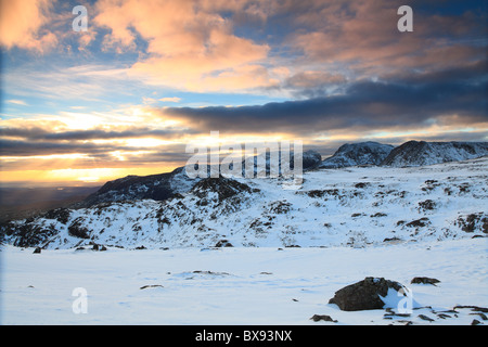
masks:
MULTIPOLYGON (((304 152, 304 171, 317 168, 351 166, 424 166, 472 159, 488 155, 488 142, 425 142, 409 141, 397 147, 377 142, 342 145, 331 157, 322 160, 316 151, 304 152)), ((269 159, 269 158, 268 158, 269 159)), ((293 163, 293 160, 292 160, 293 163)), ((243 162, 243 172, 244 172, 243 162)), ((268 163, 269 165, 269 163, 268 163)), ((188 192, 198 179, 190 179, 184 167, 172 172, 151 176, 128 176, 105 183, 98 192, 74 207, 90 207, 100 203, 151 198, 165 201, 188 192)))

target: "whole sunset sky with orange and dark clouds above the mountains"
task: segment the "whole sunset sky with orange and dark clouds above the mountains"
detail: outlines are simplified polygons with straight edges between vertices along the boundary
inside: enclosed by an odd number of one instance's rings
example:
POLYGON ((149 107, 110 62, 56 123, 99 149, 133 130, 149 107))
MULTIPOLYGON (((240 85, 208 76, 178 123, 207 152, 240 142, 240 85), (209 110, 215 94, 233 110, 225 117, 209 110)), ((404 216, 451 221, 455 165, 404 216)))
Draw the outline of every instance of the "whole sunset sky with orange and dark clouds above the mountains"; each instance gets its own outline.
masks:
POLYGON ((167 172, 210 131, 301 140, 323 157, 360 141, 488 141, 487 1, 0 7, 4 185, 167 172), (398 29, 401 5, 412 31, 398 29))

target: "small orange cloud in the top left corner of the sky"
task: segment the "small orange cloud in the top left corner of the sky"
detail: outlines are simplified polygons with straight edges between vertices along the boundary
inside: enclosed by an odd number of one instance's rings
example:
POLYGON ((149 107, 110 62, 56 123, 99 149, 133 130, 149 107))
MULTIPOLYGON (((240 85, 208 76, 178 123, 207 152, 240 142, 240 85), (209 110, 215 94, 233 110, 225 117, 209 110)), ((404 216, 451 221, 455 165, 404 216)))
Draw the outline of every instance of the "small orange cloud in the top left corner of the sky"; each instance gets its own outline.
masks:
POLYGON ((55 0, 1 0, 0 46, 44 52, 57 43, 56 36, 42 30, 55 0))

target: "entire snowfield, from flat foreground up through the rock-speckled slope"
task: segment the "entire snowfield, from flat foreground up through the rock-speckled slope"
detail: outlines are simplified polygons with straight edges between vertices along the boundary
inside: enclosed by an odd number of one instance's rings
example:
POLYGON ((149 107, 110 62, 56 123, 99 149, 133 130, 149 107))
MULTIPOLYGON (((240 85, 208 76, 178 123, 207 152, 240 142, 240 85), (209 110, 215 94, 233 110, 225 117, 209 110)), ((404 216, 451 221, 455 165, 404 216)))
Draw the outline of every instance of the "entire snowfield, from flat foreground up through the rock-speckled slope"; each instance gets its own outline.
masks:
POLYGON ((487 157, 304 179, 296 191, 279 179, 185 181, 163 202, 2 226, 1 323, 487 323, 487 157), (383 309, 329 304, 367 277, 407 286, 409 311, 396 293, 383 309))

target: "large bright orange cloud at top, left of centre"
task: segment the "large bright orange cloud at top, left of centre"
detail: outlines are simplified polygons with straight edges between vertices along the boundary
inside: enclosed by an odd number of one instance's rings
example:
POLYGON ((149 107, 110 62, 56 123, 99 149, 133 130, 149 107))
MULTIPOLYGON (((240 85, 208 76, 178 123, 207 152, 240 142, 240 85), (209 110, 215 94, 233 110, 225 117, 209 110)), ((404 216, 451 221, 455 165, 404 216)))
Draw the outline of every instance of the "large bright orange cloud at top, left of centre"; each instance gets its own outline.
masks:
POLYGON ((254 66, 267 57, 269 47, 234 35, 231 21, 215 11, 216 5, 188 0, 104 0, 97 4, 94 23, 111 29, 104 39, 106 49, 133 50, 138 36, 147 42, 147 54, 131 67, 130 76, 149 83, 192 91, 271 85, 272 80, 254 78, 254 66), (242 78, 229 83, 230 75, 241 74, 242 78))

